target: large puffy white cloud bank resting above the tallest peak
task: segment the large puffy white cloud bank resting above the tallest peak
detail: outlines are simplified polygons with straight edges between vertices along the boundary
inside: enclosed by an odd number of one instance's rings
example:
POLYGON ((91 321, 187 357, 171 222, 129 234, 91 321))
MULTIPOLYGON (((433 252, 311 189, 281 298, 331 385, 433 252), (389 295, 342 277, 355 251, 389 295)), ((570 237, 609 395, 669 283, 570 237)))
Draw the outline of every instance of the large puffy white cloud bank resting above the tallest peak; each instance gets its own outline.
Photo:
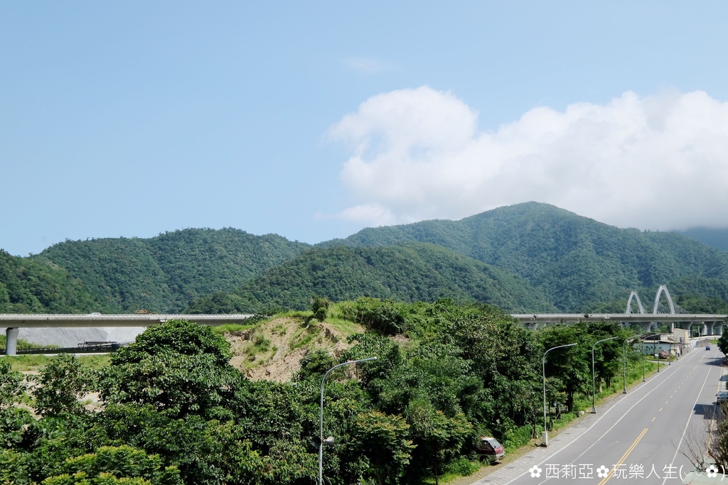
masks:
POLYGON ((705 92, 565 111, 534 108, 495 132, 429 87, 376 95, 328 132, 352 150, 341 178, 371 225, 459 219, 542 201, 620 227, 728 225, 728 103, 705 92))

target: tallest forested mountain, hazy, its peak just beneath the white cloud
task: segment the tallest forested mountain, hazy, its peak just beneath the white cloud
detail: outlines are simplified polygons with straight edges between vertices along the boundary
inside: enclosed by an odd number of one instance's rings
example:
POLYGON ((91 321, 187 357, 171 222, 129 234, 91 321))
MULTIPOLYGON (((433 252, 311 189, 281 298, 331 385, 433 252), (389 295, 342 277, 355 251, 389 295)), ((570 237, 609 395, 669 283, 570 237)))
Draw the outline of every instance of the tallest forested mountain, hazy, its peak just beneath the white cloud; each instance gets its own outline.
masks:
POLYGON ((459 221, 367 228, 322 246, 411 241, 439 244, 521 276, 567 311, 598 302, 626 303, 630 290, 656 289, 692 276, 728 280, 728 252, 678 233, 620 229, 536 202, 459 221))

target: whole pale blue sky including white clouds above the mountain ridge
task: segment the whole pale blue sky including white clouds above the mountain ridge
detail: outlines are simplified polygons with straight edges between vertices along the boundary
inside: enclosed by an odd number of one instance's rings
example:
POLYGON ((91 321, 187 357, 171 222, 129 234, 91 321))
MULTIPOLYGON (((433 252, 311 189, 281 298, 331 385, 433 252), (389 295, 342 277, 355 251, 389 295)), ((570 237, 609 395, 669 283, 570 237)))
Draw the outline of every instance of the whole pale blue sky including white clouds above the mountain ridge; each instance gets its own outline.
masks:
POLYGON ((728 5, 0 4, 0 248, 536 200, 728 227, 728 5))

